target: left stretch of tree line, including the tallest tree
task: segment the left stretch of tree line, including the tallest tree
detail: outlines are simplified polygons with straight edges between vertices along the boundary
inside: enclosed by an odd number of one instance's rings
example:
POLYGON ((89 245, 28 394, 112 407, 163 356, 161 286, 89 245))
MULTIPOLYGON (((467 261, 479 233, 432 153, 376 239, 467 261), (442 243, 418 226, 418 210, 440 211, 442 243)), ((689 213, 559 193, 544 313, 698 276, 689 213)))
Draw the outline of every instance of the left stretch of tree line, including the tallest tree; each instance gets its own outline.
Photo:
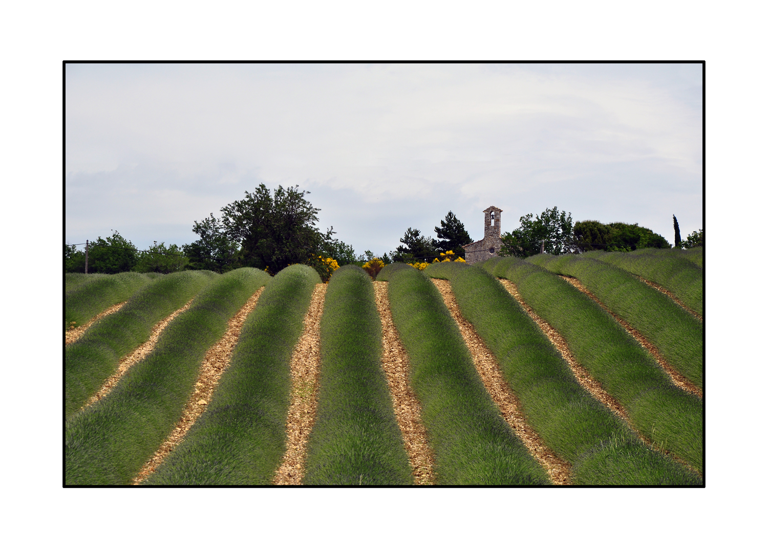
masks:
MULTIPOLYGON (((356 262, 353 246, 333 238, 333 226, 325 232, 316 227, 319 209, 312 206, 299 187, 278 186, 273 193, 260 184, 243 200, 222 207, 221 217, 194 221, 198 239, 182 246, 154 243, 139 251, 117 231, 98 237, 88 251, 88 271, 170 273, 177 270, 228 272, 243 266, 277 273, 291 264, 313 266, 321 275, 327 259, 356 262)), ((84 272, 85 252, 65 245, 65 271, 84 272)))

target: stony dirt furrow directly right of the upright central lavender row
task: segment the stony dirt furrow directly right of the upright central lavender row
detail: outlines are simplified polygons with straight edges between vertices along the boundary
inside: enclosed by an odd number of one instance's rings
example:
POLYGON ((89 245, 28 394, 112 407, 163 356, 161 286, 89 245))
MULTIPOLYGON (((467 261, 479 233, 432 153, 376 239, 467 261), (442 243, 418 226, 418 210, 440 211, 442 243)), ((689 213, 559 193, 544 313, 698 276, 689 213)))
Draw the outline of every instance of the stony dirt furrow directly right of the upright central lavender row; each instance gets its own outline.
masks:
POLYGON ((373 283, 376 309, 382 321, 382 369, 386 374, 397 425, 411 463, 413 482, 417 485, 433 485, 435 453, 429 446, 427 431, 422 424, 422 406, 409 385, 411 365, 408 353, 400 342, 395 322, 392 321, 387 286, 387 282, 373 283))

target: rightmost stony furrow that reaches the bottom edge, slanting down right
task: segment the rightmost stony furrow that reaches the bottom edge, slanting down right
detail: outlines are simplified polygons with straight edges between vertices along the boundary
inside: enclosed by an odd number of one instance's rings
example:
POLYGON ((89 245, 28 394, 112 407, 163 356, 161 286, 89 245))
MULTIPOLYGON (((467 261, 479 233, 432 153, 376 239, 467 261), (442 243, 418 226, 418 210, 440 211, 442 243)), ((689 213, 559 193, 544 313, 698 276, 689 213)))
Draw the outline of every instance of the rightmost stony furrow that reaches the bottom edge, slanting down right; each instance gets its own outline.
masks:
POLYGON ((552 482, 558 485, 570 484, 571 464, 559 458, 554 454, 545 442, 539 437, 536 431, 531 428, 525 419, 522 407, 515 394, 512 393, 507 384, 502 369, 496 362, 493 353, 485 346, 482 338, 475 332, 472 324, 462 316, 456 304, 456 298, 453 295, 451 284, 447 280, 432 279, 437 289, 442 293, 445 306, 448 307, 451 315, 461 330, 464 341, 467 344, 469 352, 472 353, 472 359, 475 361, 475 367, 482 378, 486 390, 492 396, 498 408, 502 411, 502 416, 511 426, 515 434, 523 441, 531 455, 536 458, 539 464, 549 474, 552 482))

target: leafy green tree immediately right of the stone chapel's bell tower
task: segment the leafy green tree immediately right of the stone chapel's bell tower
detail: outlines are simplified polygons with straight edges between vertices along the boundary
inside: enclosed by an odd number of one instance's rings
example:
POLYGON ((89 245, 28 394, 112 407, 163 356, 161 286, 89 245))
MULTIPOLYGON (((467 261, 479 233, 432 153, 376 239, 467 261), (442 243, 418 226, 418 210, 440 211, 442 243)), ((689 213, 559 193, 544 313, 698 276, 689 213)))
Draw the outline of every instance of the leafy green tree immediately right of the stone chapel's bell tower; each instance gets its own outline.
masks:
POLYGON ((520 217, 520 227, 502 236, 501 255, 528 257, 541 253, 541 243, 545 253, 562 255, 574 250, 573 220, 571 213, 558 211, 558 207, 546 209, 541 215, 528 213, 520 217))

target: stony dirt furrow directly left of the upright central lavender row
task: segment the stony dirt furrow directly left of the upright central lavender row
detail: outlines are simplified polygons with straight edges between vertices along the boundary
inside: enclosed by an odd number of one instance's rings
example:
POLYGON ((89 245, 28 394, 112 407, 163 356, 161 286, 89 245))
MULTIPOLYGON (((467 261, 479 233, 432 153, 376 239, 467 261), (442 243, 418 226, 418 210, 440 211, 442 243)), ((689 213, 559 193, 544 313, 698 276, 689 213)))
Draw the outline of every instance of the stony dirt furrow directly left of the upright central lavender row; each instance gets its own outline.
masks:
POLYGON ((320 319, 327 284, 316 284, 304 329, 290 359, 291 399, 286 419, 286 452, 273 484, 300 485, 304 477, 306 443, 317 415, 317 388, 320 375, 320 319))

